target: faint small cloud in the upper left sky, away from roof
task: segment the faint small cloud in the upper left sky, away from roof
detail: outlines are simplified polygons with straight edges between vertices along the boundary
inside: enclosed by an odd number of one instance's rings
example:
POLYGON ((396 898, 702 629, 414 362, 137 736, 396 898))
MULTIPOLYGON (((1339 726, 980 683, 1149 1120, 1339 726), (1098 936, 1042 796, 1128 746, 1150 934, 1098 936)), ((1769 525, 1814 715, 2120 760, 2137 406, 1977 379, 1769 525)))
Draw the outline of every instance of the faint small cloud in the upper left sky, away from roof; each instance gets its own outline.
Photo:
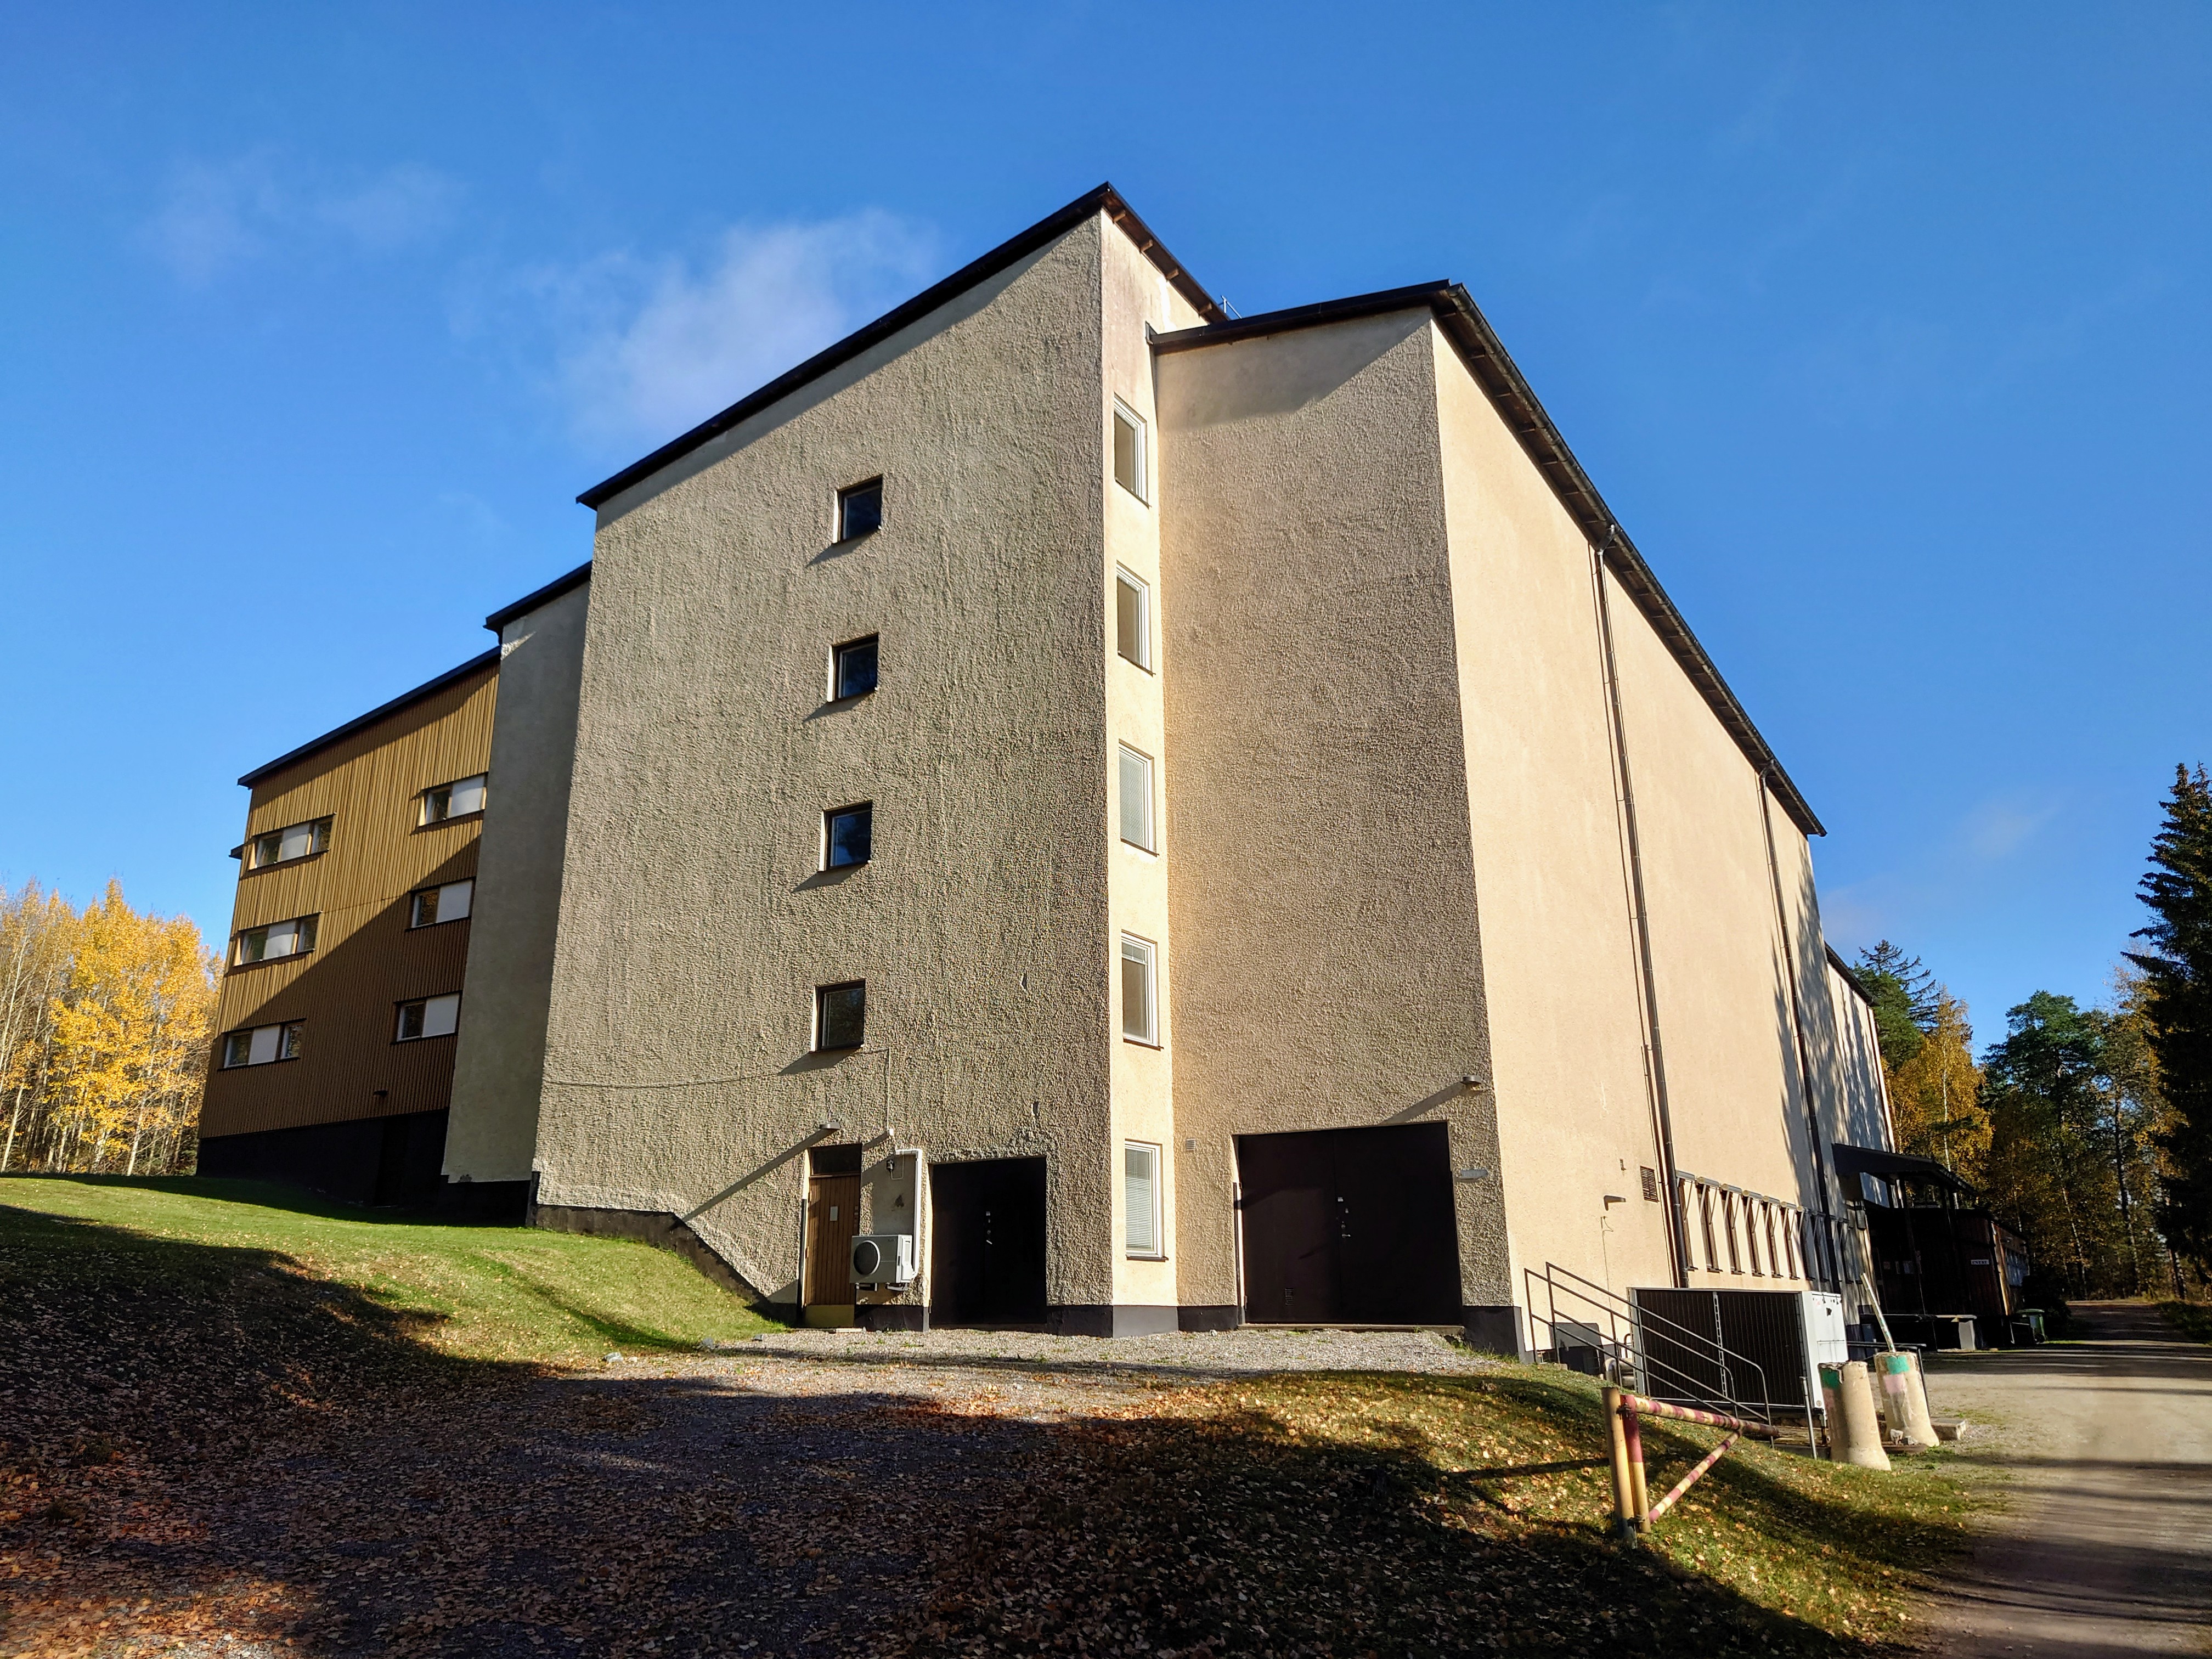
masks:
POLYGON ((177 276, 204 285, 265 254, 316 243, 394 252, 438 234, 460 195, 456 179, 427 166, 336 177, 252 150, 179 164, 146 241, 177 276))

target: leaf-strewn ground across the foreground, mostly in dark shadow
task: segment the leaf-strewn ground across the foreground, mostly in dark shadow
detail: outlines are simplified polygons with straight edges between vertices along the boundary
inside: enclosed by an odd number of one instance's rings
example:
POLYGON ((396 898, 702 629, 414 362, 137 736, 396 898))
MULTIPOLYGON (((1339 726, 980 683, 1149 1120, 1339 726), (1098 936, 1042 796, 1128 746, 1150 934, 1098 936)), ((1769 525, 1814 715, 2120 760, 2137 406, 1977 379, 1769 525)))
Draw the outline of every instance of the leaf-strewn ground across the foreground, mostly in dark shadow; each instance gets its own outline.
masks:
MULTIPOLYGON (((11 1582, 24 1650, 1431 1652, 1506 1624, 1520 1652, 1860 1650, 1608 1544, 1579 1455, 1597 1398, 1548 1380, 1312 1378, 1239 1407, 1245 1378, 1208 1413, 1064 1427, 860 1376, 794 1402, 754 1367, 451 1358, 420 1340, 434 1318, 283 1256, 22 1212, 0 1217, 0 1367, 27 1383, 4 1425, 9 1542, 38 1568, 11 1582), (1385 1427, 1296 1431, 1345 1389, 1385 1427), (1471 1413, 1513 1444, 1420 1427, 1471 1413), (524 1460, 557 1478, 518 1482, 524 1460), (1533 1491, 1566 1502, 1531 1513, 1533 1491)), ((1650 1431, 1661 1471, 1690 1447, 1650 1431)), ((1845 1535, 1849 1506, 1754 1458, 1703 1491, 1807 1555, 1834 1540, 1865 1582, 1953 1542, 1896 1517, 1845 1535)))

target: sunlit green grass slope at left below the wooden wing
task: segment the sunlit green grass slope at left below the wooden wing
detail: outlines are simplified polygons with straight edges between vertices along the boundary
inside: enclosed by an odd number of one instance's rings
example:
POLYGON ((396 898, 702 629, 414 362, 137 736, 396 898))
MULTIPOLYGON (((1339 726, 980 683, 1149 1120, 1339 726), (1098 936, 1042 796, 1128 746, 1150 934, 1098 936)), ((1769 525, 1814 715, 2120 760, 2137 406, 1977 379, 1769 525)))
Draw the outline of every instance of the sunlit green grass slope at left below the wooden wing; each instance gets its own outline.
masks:
POLYGON ((86 1221, 144 1239, 146 1272, 179 1259, 161 1243, 268 1252, 358 1292, 453 1358, 573 1365, 781 1329, 681 1256, 624 1239, 436 1225, 261 1181, 0 1179, 0 1248, 13 1245, 18 1272, 93 1274, 86 1252, 113 1252, 117 1234, 66 1225, 86 1221))

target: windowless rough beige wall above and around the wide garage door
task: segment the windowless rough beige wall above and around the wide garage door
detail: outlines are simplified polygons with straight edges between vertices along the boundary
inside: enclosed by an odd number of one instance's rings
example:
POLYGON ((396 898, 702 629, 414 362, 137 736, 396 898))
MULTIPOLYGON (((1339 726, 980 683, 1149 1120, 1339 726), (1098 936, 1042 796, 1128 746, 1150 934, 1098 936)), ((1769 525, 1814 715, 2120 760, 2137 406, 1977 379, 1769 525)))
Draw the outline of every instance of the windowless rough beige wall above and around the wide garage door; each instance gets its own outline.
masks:
POLYGON ((1234 1135, 1444 1119, 1504 1301, 1429 314, 1161 356, 1159 414, 1179 1296, 1237 1301, 1234 1135))

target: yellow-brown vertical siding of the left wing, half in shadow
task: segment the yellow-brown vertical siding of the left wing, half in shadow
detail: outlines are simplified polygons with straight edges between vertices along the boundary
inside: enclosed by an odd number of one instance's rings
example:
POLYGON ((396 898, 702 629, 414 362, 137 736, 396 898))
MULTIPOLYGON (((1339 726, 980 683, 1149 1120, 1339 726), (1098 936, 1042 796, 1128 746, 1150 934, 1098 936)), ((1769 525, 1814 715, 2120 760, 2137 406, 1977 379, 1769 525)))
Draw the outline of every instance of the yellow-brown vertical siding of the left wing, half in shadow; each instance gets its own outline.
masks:
MULTIPOLYGON (((487 664, 254 785, 248 841, 327 816, 330 852, 270 869, 241 863, 230 940, 292 916, 321 922, 307 956, 228 969, 217 1031, 305 1020, 303 1053, 268 1066, 217 1066, 201 1135, 445 1108, 453 1037, 392 1037, 400 1002, 460 991, 469 922, 409 931, 407 896, 476 874, 480 821, 416 825, 416 814, 422 790, 491 765, 495 695, 498 668, 487 664)), ((460 1018, 469 1018, 467 1002, 460 1018)))

